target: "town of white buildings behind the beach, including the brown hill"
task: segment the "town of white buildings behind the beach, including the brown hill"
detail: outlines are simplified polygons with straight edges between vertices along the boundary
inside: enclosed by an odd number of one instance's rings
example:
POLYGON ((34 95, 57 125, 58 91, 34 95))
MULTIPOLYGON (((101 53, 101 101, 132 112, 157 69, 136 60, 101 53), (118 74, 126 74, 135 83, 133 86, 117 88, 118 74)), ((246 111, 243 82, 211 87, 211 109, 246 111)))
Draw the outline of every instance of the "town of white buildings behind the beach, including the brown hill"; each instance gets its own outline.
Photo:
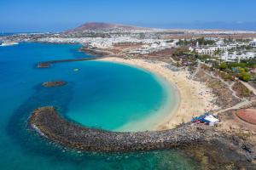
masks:
POLYGON ((15 42, 79 43, 93 54, 160 59, 177 66, 202 62, 230 77, 254 82, 256 31, 168 30, 105 23, 87 23, 59 33, 1 36, 2 45, 15 42))

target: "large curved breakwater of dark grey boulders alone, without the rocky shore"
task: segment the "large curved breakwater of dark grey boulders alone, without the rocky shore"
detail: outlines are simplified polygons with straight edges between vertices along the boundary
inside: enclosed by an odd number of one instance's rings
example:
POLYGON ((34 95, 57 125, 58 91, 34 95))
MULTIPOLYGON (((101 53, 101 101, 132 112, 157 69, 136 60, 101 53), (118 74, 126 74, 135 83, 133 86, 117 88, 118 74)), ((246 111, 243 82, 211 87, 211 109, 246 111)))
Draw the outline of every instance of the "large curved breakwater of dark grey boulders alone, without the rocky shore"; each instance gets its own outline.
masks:
POLYGON ((87 151, 123 152, 134 150, 159 150, 204 140, 205 131, 185 125, 157 132, 119 133, 82 127, 61 117, 54 107, 35 110, 30 119, 49 139, 71 148, 87 151))

